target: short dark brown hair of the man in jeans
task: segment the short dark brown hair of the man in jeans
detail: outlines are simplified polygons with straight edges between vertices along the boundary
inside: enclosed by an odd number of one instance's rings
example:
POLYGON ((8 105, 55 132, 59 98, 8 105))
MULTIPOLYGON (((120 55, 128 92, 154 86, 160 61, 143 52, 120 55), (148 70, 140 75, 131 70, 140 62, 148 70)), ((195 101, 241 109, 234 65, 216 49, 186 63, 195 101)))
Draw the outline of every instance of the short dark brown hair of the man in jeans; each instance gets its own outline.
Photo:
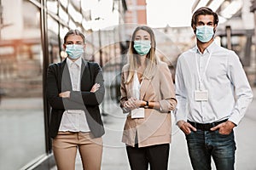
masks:
POLYGON ((196 25, 196 21, 199 15, 213 15, 214 17, 213 24, 218 25, 218 14, 213 12, 211 8, 201 7, 201 8, 198 8, 192 16, 192 20, 191 20, 192 27, 196 25))

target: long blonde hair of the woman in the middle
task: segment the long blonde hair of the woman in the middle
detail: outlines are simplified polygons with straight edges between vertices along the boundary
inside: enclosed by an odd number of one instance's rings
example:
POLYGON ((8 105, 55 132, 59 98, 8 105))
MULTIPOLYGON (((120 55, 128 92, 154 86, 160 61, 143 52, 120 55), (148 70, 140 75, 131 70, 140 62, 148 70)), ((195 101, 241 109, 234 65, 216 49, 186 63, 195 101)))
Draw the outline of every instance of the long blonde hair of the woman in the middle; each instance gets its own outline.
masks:
POLYGON ((135 31, 133 31, 133 34, 131 37, 131 42, 130 42, 130 47, 128 50, 128 57, 129 57, 128 71, 129 71, 129 73, 128 73, 128 77, 127 77, 125 83, 131 82, 135 72, 137 71, 138 62, 140 61, 138 59, 138 57, 140 57, 140 56, 137 54, 137 51, 133 48, 136 32, 139 30, 147 31, 148 34, 150 35, 150 41, 151 41, 151 48, 150 48, 148 54, 146 55, 147 66, 146 66, 145 71, 143 72, 143 78, 152 79, 154 77, 154 74, 156 71, 156 66, 158 64, 158 58, 155 55, 156 43, 155 43, 154 31, 151 28, 149 28, 148 26, 137 26, 135 31))

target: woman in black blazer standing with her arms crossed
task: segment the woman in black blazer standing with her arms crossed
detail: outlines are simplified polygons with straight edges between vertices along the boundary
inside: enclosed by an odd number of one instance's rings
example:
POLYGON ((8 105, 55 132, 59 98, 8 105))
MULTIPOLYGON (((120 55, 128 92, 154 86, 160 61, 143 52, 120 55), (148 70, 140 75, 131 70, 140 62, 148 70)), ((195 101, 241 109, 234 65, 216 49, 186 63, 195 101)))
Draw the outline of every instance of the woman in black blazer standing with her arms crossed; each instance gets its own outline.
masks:
POLYGON ((68 31, 67 58, 49 65, 47 99, 51 106, 49 136, 59 170, 74 170, 77 149, 84 169, 101 169, 104 127, 99 105, 105 88, 101 67, 82 59, 84 35, 68 31))

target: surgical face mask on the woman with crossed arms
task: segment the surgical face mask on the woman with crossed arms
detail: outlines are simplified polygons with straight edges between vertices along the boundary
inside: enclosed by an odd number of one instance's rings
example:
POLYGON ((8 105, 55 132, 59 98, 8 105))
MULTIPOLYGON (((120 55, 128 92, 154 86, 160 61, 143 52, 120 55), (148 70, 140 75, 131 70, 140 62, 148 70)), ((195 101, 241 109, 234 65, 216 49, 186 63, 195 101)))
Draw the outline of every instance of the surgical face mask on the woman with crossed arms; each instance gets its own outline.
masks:
POLYGON ((66 53, 70 59, 79 59, 84 53, 84 45, 68 44, 66 45, 66 53))

